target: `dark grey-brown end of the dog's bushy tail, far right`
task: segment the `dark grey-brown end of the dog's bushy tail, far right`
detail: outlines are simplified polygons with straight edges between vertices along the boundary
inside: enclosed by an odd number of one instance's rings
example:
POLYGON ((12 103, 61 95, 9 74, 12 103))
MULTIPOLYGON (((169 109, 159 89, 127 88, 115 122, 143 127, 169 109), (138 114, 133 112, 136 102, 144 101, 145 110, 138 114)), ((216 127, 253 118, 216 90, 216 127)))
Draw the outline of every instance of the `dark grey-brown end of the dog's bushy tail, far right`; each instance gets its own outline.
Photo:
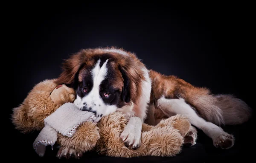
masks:
POLYGON ((233 95, 215 95, 215 104, 222 111, 224 124, 242 124, 252 115, 252 109, 241 99, 233 95))

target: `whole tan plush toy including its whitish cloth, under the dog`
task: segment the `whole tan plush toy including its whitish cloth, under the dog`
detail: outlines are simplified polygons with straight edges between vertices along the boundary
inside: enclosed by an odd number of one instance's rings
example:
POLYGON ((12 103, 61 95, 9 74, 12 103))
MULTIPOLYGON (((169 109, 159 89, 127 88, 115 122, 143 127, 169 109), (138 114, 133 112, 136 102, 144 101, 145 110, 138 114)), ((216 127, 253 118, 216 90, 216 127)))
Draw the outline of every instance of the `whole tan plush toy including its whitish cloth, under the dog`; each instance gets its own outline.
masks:
MULTIPOLYGON (((73 89, 56 85, 54 79, 44 80, 13 109, 12 123, 16 129, 22 133, 40 131, 32 144, 38 155, 44 156, 45 146, 57 143, 74 149, 79 157, 90 150, 111 157, 175 156, 181 152, 184 137, 191 127, 181 115, 164 119, 156 126, 143 124, 142 145, 129 149, 119 138, 128 117, 113 112, 97 124, 93 123, 93 113, 79 110, 75 97, 73 89)), ((63 157, 61 150, 58 157, 63 157)))

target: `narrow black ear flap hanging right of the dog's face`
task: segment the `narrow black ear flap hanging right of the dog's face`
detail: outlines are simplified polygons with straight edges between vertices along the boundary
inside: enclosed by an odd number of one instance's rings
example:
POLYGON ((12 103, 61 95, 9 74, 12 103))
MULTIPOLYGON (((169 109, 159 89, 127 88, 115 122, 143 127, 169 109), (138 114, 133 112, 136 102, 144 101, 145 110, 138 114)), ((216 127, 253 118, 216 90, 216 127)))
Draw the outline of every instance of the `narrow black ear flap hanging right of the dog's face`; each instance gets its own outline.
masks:
POLYGON ((126 103, 128 103, 130 102, 130 80, 127 74, 125 73, 125 70, 121 66, 119 66, 119 71, 121 72, 122 78, 124 80, 121 98, 122 98, 122 101, 125 101, 126 103))

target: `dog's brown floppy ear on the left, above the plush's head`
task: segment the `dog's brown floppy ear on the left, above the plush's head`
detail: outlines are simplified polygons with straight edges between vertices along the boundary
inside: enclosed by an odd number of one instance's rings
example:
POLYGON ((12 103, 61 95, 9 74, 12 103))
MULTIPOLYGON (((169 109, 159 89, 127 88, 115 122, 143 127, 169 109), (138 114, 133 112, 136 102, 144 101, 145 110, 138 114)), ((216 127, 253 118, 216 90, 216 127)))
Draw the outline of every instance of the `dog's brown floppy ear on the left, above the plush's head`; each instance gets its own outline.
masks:
POLYGON ((78 83, 79 70, 83 65, 83 54, 79 53, 73 54, 69 59, 65 59, 62 65, 62 73, 59 75, 55 83, 65 84, 67 87, 76 88, 78 83))

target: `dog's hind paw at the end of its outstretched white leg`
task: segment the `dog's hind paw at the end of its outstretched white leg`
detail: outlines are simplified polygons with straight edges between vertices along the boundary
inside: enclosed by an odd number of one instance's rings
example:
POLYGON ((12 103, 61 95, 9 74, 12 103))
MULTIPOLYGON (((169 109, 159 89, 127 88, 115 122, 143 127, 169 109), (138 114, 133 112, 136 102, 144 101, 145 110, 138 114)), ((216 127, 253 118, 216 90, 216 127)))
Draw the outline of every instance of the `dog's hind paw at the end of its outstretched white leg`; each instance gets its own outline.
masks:
POLYGON ((235 138, 230 134, 220 135, 213 141, 214 146, 221 149, 230 149, 234 143, 235 138))

